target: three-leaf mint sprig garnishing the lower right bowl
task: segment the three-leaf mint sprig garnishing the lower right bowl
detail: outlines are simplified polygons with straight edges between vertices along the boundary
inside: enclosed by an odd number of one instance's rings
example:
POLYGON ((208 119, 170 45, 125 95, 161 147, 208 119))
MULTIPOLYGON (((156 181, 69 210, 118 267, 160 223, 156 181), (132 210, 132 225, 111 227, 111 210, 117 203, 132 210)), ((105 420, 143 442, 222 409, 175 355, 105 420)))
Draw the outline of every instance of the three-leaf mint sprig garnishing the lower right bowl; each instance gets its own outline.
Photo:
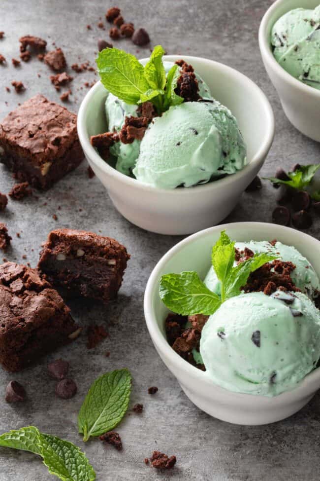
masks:
POLYGON ((238 296, 251 272, 266 262, 277 259, 269 254, 255 254, 234 266, 234 242, 225 231, 212 248, 212 266, 221 283, 221 296, 211 292, 194 271, 164 274, 160 279, 159 294, 163 303, 173 312, 184 316, 213 314, 229 297, 238 296))

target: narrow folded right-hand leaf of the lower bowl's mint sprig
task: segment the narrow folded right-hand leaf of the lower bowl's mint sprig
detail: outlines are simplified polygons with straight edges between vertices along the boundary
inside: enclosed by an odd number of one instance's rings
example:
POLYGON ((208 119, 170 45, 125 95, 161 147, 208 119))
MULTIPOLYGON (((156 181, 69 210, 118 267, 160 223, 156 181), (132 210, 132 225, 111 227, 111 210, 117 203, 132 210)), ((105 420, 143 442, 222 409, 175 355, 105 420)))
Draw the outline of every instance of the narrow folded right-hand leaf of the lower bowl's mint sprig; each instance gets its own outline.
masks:
POLYGON ((265 253, 255 254, 253 258, 240 262, 233 267, 224 285, 225 299, 239 296, 241 288, 247 284, 251 272, 274 259, 277 259, 277 256, 265 253))

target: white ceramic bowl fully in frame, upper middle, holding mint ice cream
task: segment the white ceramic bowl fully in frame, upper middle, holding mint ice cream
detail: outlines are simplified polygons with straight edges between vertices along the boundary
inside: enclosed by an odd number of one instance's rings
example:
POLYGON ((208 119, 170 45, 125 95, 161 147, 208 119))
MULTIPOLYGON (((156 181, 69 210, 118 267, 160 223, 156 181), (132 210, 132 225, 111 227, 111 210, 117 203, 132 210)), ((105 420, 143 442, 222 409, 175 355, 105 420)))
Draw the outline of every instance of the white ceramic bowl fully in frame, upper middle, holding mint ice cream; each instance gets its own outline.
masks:
POLYGON ((248 148, 249 164, 242 171, 209 184, 172 190, 150 187, 118 172, 90 145, 91 135, 107 130, 104 113, 107 91, 100 82, 82 101, 78 134, 89 164, 124 217, 153 232, 190 234, 221 222, 235 207, 269 151, 274 135, 274 117, 263 92, 236 70, 197 57, 164 58, 168 61, 184 58, 192 64, 215 98, 236 116, 248 148))

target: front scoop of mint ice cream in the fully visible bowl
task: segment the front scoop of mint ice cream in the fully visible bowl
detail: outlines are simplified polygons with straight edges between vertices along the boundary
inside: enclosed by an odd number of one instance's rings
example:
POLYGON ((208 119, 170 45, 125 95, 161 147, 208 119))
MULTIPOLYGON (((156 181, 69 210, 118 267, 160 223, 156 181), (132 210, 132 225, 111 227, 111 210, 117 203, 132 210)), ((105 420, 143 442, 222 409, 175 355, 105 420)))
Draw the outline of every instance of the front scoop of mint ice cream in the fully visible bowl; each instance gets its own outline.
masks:
POLYGON ((185 102, 149 125, 133 169, 139 181, 172 189, 233 174, 246 163, 246 147, 232 113, 217 101, 185 102))

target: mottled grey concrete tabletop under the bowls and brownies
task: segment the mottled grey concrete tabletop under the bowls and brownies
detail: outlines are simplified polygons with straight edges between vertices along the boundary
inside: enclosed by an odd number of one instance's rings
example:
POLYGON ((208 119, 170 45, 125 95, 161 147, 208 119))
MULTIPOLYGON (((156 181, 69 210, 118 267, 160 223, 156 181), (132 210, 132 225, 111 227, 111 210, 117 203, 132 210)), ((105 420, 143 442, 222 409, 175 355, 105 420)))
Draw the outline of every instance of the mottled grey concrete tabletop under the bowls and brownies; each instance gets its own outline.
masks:
MULTIPOLYGON (((120 4, 126 20, 137 27, 144 26, 152 43, 161 43, 168 53, 218 60, 248 75, 263 89, 276 117, 276 135, 263 175, 274 174, 278 165, 318 162, 320 153, 320 144, 303 137, 288 123, 262 65, 257 31, 270 3, 268 0, 122 0, 120 4)), ((7 66, 0 66, 0 118, 18 102, 38 92, 59 101, 49 80, 51 73, 36 58, 18 69, 11 65, 11 58, 19 55, 18 38, 38 35, 48 40, 49 48, 55 41, 63 47, 69 66, 78 57, 94 62, 97 39, 107 38, 107 31, 99 30, 96 24, 100 16, 104 20, 109 6, 110 2, 98 0, 0 1, 0 30, 5 31, 0 53, 9 60, 7 66), (87 24, 92 25, 91 31, 87 31, 87 24), (27 90, 21 95, 14 91, 7 93, 5 86, 11 80, 23 80, 27 90)), ((142 57, 148 54, 148 49, 137 52, 129 41, 118 45, 142 57)), ((82 90, 80 87, 95 76, 93 73, 74 76, 72 102, 68 107, 76 112, 86 92, 85 87, 82 90)), ((43 432, 68 439, 86 450, 97 480, 318 480, 319 395, 290 419, 262 427, 226 424, 201 412, 186 398, 152 345, 142 309, 144 287, 152 268, 181 238, 151 234, 131 225, 115 211, 97 178, 88 180, 86 168, 84 162, 54 188, 40 193, 38 199, 23 203, 9 200, 0 221, 8 224, 13 237, 6 258, 23 261, 22 256, 26 255, 32 266, 37 263, 41 242, 58 226, 102 232, 127 246, 132 257, 118 300, 104 309, 80 302, 71 306, 80 324, 105 323, 110 337, 96 349, 87 351, 83 335, 37 366, 14 376, 1 370, 0 432, 33 424, 43 432), (58 215, 58 221, 53 220, 53 214, 58 215), (20 239, 16 232, 21 232, 20 239), (111 352, 109 358, 104 356, 106 351, 111 352), (70 362, 70 376, 78 384, 78 394, 71 400, 56 398, 55 382, 47 376, 48 361, 57 357, 70 362), (104 371, 125 366, 133 375, 130 406, 143 403, 143 414, 128 411, 118 427, 124 444, 122 452, 112 446, 104 447, 96 440, 84 445, 77 434, 76 420, 90 384, 104 371), (23 405, 7 405, 3 399, 4 388, 12 378, 26 386, 28 401, 23 405), (151 385, 159 387, 155 396, 147 394, 151 385), (159 473, 145 466, 143 459, 153 449, 176 454, 176 468, 159 473)), ((0 166, 0 191, 8 192, 12 185, 11 175, 0 166)), ((227 220, 270 221, 275 195, 276 191, 265 183, 261 192, 244 194, 227 220)), ((319 237, 319 220, 308 232, 319 237)), ((0 466, 0 481, 56 479, 30 453, 0 448, 0 466)))

